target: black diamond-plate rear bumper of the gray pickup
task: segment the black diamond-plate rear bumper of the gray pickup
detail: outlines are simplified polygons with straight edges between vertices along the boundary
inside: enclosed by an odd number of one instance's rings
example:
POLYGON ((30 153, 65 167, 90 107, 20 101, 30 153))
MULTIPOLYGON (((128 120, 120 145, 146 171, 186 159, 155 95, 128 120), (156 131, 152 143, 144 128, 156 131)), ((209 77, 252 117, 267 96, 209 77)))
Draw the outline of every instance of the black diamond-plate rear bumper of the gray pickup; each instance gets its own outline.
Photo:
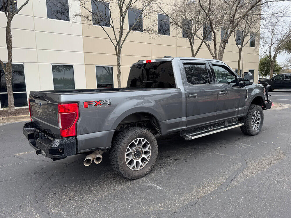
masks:
POLYGON ((36 154, 43 154, 52 160, 60 160, 76 154, 76 138, 52 138, 36 129, 32 122, 25 123, 23 134, 36 154))

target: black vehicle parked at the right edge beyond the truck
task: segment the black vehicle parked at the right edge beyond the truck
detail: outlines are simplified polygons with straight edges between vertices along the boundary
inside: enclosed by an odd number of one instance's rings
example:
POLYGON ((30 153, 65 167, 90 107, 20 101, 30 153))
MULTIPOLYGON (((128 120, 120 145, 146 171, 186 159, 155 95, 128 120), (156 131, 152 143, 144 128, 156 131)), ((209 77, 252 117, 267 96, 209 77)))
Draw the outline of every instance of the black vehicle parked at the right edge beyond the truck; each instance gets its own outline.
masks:
POLYGON ((259 81, 259 84, 271 85, 269 91, 274 89, 291 89, 291 73, 278 74, 271 79, 259 81))

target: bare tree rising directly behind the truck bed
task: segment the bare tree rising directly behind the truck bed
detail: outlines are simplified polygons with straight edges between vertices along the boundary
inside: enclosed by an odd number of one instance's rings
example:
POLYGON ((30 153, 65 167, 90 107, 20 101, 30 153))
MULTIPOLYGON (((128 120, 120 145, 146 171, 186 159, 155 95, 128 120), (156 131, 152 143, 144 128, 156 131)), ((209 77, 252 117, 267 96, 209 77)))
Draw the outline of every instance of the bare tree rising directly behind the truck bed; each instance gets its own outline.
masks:
POLYGON ((104 0, 92 0, 92 4, 91 0, 79 1, 79 6, 85 12, 75 14, 75 16, 79 16, 87 22, 90 21, 93 24, 101 26, 114 46, 117 59, 118 87, 121 87, 121 51, 130 31, 141 31, 149 33, 150 35, 157 32, 155 30, 155 20, 152 19, 153 12, 155 11, 154 5, 154 0, 109 0, 106 2, 104 0), (127 23, 126 15, 129 10, 136 13, 136 16, 134 21, 129 23, 130 26, 127 29, 124 25, 127 23), (116 13, 116 11, 118 12, 116 13), (149 22, 147 24, 143 24, 144 18, 148 19, 149 22), (109 29, 104 26, 111 28, 109 29), (111 34, 111 30, 113 34, 111 34))

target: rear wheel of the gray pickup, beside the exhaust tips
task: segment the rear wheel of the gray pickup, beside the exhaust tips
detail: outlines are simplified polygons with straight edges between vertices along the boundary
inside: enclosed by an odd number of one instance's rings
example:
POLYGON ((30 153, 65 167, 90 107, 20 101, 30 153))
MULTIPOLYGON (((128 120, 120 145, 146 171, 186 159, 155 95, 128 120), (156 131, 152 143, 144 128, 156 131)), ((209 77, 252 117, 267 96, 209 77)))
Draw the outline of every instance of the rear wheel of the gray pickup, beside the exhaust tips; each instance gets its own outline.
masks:
POLYGON ((145 176, 157 160, 158 145, 155 136, 140 127, 119 132, 110 149, 113 169, 128 179, 145 176))

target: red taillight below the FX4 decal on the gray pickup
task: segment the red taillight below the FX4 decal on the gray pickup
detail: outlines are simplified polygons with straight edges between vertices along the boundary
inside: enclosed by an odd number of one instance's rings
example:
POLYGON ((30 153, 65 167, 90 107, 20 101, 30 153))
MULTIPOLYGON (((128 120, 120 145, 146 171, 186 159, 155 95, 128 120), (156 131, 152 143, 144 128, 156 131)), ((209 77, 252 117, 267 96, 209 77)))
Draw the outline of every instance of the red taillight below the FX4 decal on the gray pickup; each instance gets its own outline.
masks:
POLYGON ((76 135, 76 125, 78 119, 78 103, 58 104, 58 127, 60 128, 62 137, 76 135))

